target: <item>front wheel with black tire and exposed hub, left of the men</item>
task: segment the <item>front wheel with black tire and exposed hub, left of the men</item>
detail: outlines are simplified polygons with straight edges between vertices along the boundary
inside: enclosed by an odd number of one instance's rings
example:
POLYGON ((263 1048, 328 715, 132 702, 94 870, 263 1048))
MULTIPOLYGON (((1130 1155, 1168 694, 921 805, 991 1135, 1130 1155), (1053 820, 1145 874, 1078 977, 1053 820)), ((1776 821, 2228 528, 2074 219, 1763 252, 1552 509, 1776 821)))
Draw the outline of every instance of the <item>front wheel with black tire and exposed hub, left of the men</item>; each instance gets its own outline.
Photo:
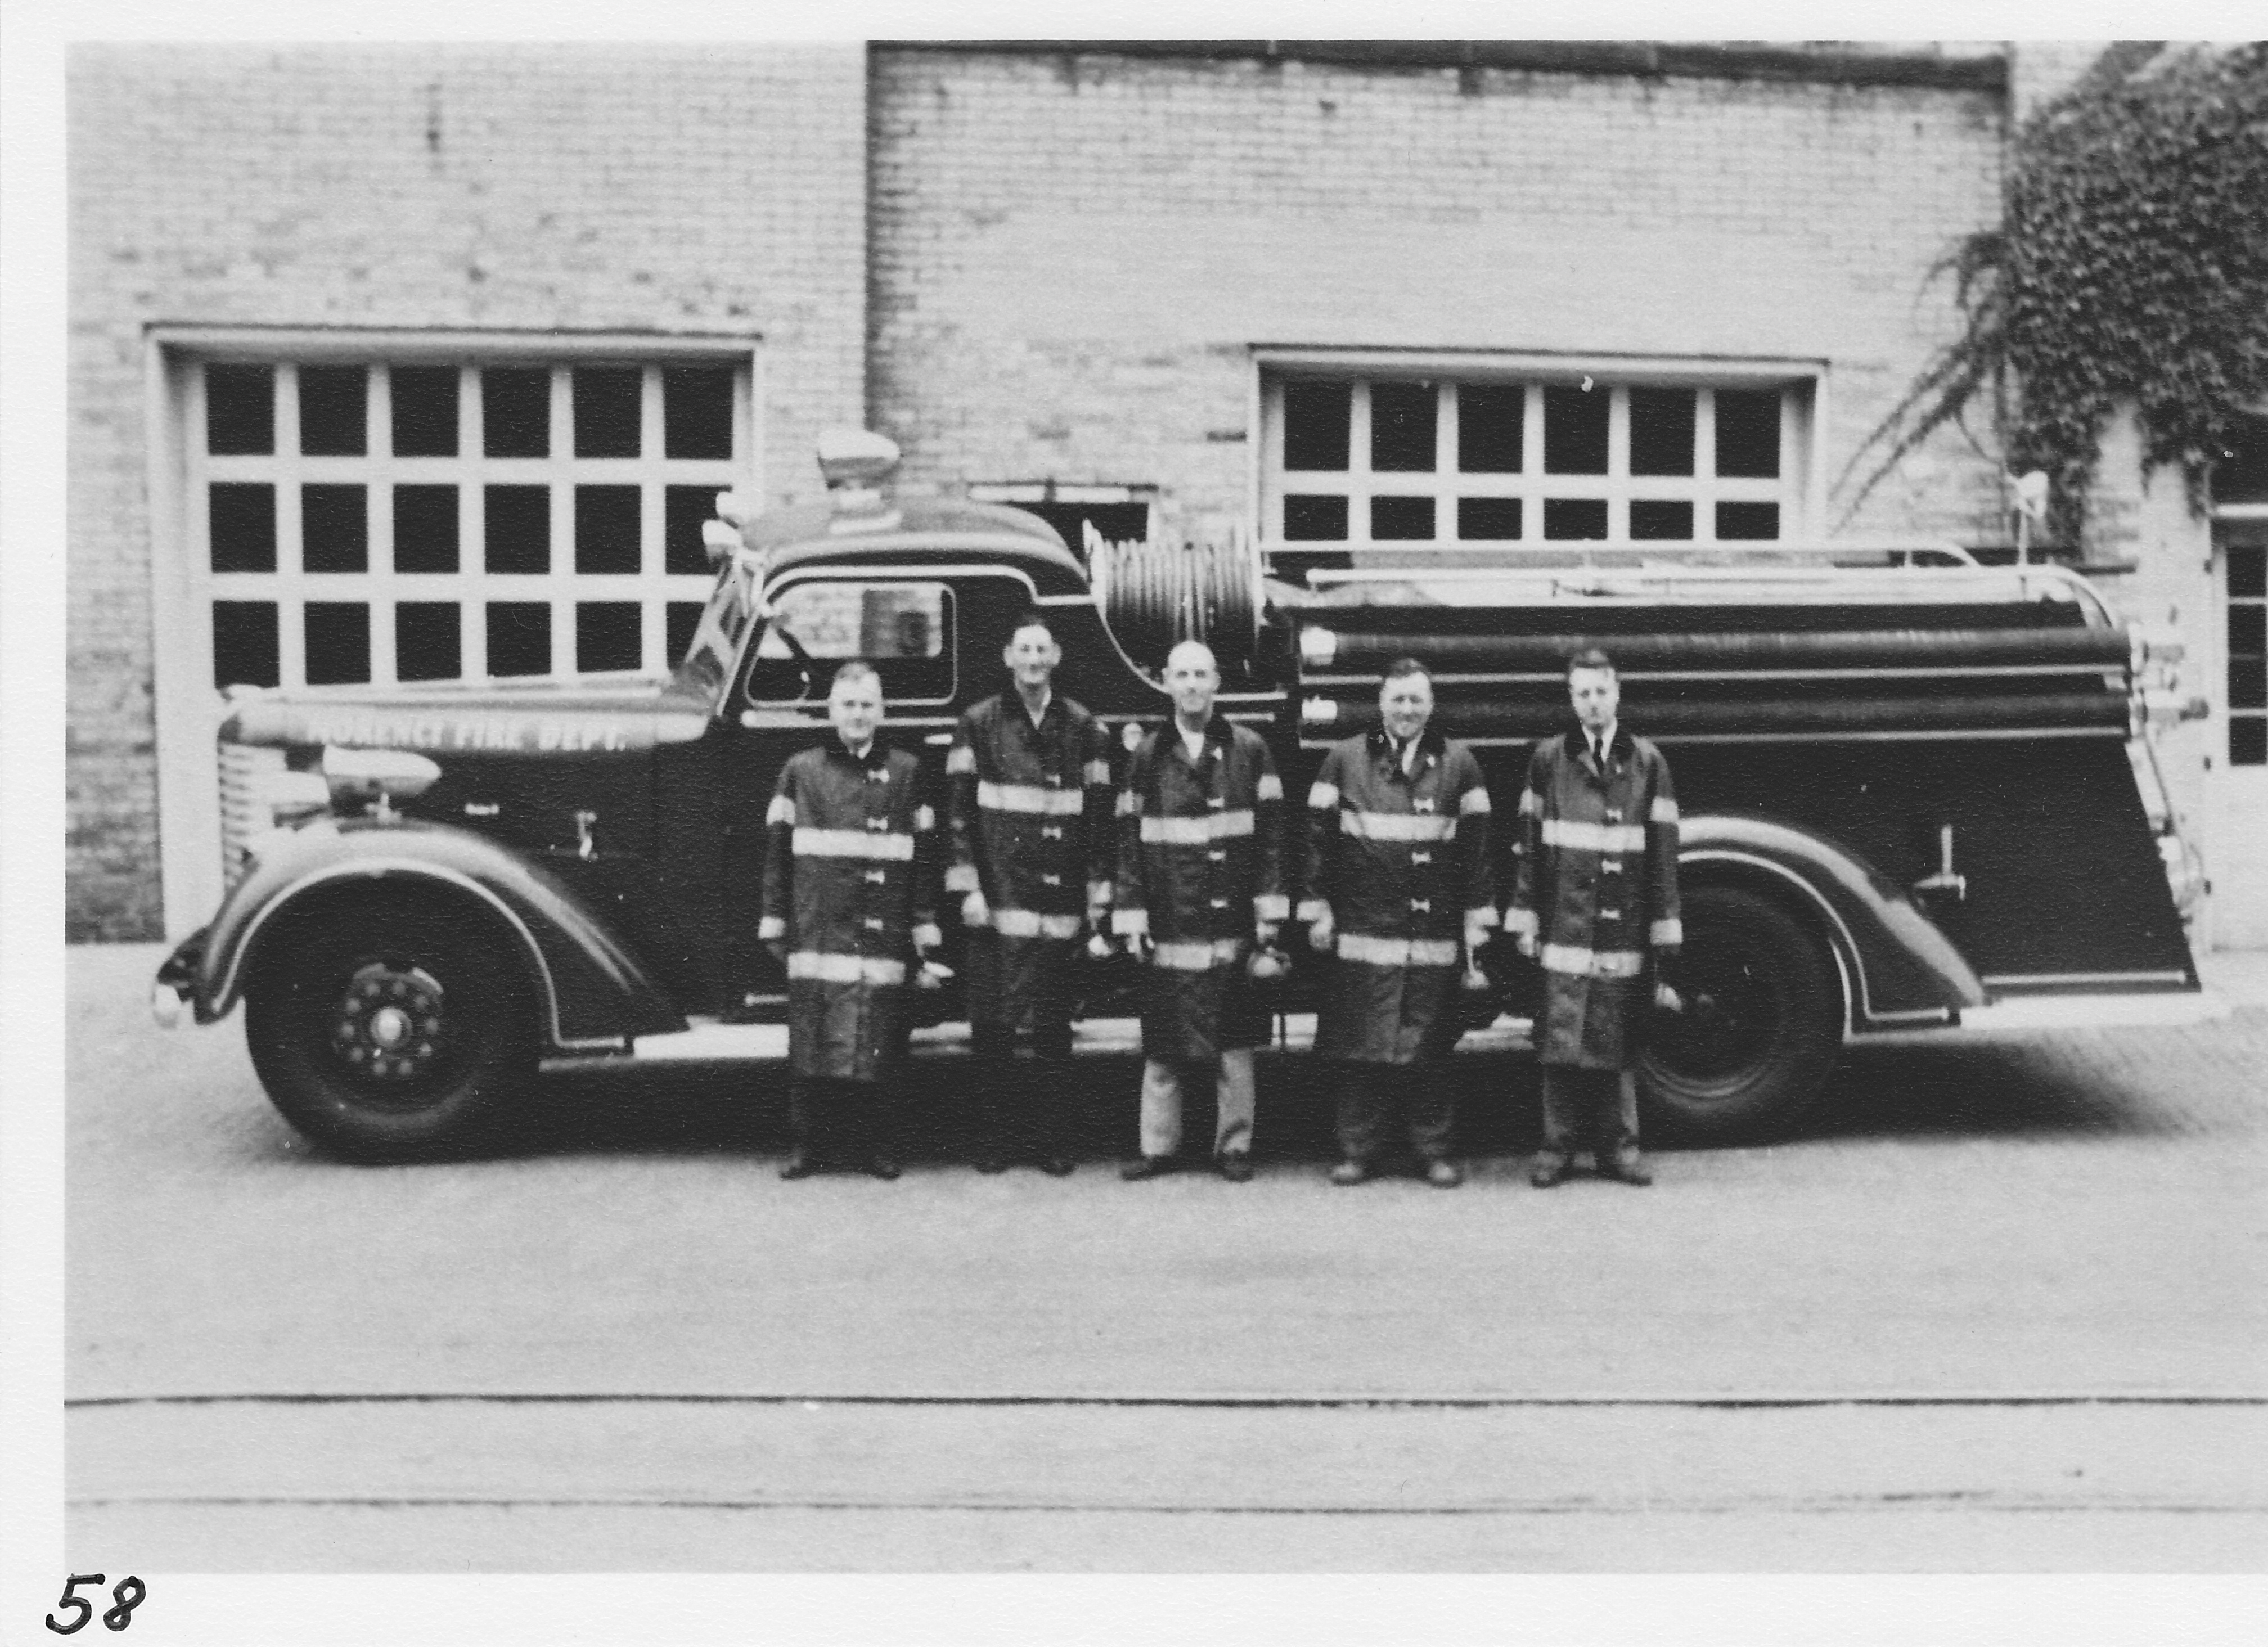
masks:
POLYGON ((299 1132, 354 1162, 481 1139, 535 1069, 519 955, 447 901, 295 917, 259 955, 245 1037, 299 1132))

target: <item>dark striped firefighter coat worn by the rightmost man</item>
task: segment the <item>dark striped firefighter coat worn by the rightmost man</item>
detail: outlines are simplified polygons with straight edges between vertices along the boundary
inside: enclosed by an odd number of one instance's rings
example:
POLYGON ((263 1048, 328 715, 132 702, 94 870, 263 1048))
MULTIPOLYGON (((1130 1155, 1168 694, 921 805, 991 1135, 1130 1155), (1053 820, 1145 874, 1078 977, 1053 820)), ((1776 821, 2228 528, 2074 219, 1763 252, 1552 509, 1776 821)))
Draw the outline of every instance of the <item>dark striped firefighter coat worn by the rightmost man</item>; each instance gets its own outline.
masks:
POLYGON ((1520 871, 1504 930, 1542 946, 1545 1064, 1628 1069, 1653 996, 1651 955, 1685 941, 1669 762, 1619 726, 1606 760, 1599 771, 1581 733, 1547 737, 1520 792, 1520 871))

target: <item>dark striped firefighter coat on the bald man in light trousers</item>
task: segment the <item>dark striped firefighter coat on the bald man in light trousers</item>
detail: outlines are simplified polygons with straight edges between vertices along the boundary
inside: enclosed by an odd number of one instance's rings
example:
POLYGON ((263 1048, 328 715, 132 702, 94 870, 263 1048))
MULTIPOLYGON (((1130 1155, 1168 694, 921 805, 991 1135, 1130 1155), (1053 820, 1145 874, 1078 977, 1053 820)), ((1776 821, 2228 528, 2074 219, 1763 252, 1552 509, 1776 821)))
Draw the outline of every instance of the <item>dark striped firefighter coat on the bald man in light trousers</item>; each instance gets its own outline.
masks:
POLYGON ((1118 792, 1118 932, 1148 932, 1143 1053, 1209 1064, 1259 1046, 1268 1019, 1245 975, 1254 923, 1290 917, 1284 780, 1259 733, 1213 715, 1191 765, 1168 724, 1118 792))

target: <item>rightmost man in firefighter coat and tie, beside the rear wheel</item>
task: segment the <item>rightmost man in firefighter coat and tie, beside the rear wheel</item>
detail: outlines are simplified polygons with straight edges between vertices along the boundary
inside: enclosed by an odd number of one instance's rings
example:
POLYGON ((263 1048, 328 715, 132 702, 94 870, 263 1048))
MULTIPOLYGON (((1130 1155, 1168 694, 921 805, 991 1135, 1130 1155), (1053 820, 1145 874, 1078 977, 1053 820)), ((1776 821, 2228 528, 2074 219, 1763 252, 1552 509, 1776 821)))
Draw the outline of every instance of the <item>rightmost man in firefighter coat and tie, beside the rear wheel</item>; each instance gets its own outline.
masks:
POLYGON ((1567 1177, 1590 1134, 1601 1177, 1651 1184, 1637 1152, 1633 1075, 1658 973, 1678 926, 1678 801, 1669 762, 1631 737, 1615 710, 1613 660, 1588 647, 1567 660, 1576 730, 1547 737, 1520 792, 1520 873, 1504 928, 1542 962, 1535 1050, 1545 1071, 1545 1141, 1529 1182, 1567 1177))

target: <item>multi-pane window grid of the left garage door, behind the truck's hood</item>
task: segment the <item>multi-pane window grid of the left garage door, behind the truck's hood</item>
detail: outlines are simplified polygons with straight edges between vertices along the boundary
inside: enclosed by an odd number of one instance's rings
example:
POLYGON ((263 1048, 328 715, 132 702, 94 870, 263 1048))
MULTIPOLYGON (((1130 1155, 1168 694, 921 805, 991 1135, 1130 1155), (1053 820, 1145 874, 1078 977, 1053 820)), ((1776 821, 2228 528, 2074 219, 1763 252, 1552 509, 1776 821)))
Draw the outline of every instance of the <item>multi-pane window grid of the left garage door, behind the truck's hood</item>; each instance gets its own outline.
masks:
POLYGON ((753 479, 744 361, 204 361, 191 588, 213 685, 662 672, 753 479))

